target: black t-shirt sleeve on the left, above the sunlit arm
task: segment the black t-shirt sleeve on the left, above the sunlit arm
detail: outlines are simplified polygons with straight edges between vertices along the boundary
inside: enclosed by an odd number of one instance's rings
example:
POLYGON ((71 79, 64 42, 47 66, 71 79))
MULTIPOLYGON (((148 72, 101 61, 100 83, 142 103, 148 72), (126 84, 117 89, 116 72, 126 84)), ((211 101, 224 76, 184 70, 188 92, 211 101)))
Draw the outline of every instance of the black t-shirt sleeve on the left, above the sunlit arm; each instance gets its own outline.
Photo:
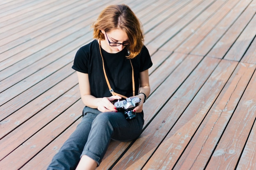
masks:
POLYGON ((72 68, 81 73, 88 73, 88 54, 85 53, 85 47, 81 47, 74 58, 74 64, 72 68))

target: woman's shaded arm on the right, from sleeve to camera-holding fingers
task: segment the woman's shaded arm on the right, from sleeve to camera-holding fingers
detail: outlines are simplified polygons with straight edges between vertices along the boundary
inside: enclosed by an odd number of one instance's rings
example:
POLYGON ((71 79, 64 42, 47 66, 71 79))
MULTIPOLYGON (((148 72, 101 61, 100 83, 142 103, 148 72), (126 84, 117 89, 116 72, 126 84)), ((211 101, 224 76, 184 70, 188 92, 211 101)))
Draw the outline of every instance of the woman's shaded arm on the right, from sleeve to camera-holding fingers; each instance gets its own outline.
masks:
MULTIPOLYGON (((144 93, 148 97, 150 94, 148 70, 140 72, 139 77, 139 93, 144 93)), ((139 105, 134 108, 134 110, 138 113, 142 112, 143 109, 144 94, 139 94, 136 96, 141 98, 141 102, 139 103, 139 105)))

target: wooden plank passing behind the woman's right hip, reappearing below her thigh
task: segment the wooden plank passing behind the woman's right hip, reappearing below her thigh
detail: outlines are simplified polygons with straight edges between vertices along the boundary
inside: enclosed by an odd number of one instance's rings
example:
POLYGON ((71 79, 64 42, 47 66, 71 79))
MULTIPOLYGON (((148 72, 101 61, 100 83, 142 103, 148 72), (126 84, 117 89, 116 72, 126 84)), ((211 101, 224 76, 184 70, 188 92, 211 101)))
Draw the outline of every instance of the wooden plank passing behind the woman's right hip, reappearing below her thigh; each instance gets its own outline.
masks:
MULTIPOLYGON (((197 66, 197 64, 202 60, 202 57, 198 56, 189 56, 186 57, 185 60, 173 71, 171 75, 169 75, 164 83, 154 91, 147 102, 144 104, 144 127, 147 126, 150 121, 155 117, 164 104, 168 101, 168 99, 175 93, 177 88, 184 82, 186 77, 189 76, 191 71, 197 66), (184 68, 186 68, 184 70, 184 68), (173 81, 175 79, 175 81, 173 81), (165 89, 164 91, 162 89, 165 89)), ((166 64, 168 66, 168 64, 166 64)), ((144 139, 144 138, 143 138, 144 139)), ((142 140, 144 141, 144 140, 142 140)), ((143 143, 143 142, 142 142, 143 143)), ((140 144, 142 144, 140 143, 140 144)), ((116 150, 112 151, 110 155, 107 157, 106 161, 103 161, 99 166, 99 169, 106 170, 118 159, 122 152, 125 151, 128 143, 120 143, 116 146, 116 150), (114 160, 114 161, 112 161, 114 160)))

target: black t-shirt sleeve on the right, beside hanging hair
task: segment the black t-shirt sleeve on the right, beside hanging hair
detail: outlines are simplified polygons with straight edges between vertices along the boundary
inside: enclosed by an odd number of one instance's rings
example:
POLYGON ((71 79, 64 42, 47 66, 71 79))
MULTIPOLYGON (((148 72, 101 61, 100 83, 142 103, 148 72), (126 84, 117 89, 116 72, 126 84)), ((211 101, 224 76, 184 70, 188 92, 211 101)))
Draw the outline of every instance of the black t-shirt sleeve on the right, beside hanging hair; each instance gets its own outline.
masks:
POLYGON ((153 65, 150 54, 146 46, 143 46, 143 48, 141 49, 139 60, 140 60, 139 72, 145 71, 153 65))

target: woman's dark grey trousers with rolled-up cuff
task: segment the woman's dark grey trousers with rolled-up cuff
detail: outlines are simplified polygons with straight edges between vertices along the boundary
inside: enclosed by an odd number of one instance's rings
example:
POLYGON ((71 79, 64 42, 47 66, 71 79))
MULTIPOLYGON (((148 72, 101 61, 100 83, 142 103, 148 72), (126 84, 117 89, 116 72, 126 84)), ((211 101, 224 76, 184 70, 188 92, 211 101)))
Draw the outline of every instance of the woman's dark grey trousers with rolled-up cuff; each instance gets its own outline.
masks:
POLYGON ((127 121, 122 112, 104 112, 85 107, 83 119, 53 157, 47 170, 73 170, 82 155, 94 159, 98 165, 106 153, 111 139, 131 141, 141 134, 143 112, 127 121))

